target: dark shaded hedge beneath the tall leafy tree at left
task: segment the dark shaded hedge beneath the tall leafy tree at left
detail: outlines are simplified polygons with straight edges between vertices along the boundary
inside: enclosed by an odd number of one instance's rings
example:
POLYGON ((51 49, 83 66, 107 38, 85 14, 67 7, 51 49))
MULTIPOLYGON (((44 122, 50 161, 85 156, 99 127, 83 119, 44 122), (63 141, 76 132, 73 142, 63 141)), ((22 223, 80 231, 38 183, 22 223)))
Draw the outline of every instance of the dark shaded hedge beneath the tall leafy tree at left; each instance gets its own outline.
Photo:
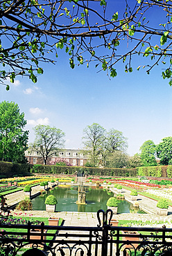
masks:
POLYGON ((14 176, 26 176, 29 174, 31 165, 24 163, 9 163, 0 161, 0 179, 14 176))

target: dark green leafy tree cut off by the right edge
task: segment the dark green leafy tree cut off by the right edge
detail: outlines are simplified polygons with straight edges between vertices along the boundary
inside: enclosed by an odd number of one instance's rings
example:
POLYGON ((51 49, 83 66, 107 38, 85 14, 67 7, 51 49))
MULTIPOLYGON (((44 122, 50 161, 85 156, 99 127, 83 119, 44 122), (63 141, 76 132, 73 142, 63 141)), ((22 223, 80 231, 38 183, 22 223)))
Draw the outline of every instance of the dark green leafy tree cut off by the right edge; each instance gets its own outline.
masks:
POLYGON ((160 164, 172 164, 172 137, 162 139, 162 142, 157 145, 157 157, 160 158, 160 164))

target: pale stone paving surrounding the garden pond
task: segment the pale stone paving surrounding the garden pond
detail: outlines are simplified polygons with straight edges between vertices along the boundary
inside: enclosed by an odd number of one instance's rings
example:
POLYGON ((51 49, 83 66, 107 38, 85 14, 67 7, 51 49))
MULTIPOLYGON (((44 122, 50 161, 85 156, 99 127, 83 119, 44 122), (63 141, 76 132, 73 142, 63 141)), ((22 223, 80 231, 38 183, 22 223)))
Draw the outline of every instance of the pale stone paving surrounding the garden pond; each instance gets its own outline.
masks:
MULTIPOLYGON (((114 188, 111 188, 112 192, 116 194, 117 192, 114 191, 114 188)), ((32 195, 36 195, 40 192, 40 185, 33 187, 32 195)), ((124 194, 127 201, 132 203, 130 200, 130 191, 124 190, 122 194, 124 194)), ((19 191, 12 194, 8 194, 7 196, 7 203, 8 206, 15 205, 19 203, 22 199, 24 199, 24 192, 19 191)), ((159 216, 156 214, 156 205, 157 201, 153 199, 148 199, 145 196, 138 196, 137 201, 139 202, 140 208, 147 212, 147 214, 134 214, 134 213, 122 213, 117 214, 113 219, 118 220, 170 220, 172 219, 172 207, 169 207, 169 214, 168 216, 159 216)), ((18 210, 11 210, 11 212, 21 213, 18 210)), ((45 210, 42 211, 24 211, 22 212, 21 216, 29 216, 32 214, 33 217, 61 217, 65 220, 65 226, 97 226, 98 221, 96 218, 96 212, 46 212, 45 210)))

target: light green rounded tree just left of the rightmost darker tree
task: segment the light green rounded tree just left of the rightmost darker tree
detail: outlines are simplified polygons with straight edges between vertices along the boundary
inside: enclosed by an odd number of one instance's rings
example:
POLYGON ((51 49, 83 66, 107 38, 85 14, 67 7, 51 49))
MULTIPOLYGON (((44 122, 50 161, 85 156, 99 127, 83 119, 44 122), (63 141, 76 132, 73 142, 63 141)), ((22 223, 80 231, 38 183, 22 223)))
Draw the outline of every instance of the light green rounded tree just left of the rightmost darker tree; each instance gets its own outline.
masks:
POLYGON ((146 140, 143 145, 140 147, 141 150, 141 160, 143 161, 144 166, 155 166, 157 161, 155 158, 156 154, 156 145, 153 140, 146 140))

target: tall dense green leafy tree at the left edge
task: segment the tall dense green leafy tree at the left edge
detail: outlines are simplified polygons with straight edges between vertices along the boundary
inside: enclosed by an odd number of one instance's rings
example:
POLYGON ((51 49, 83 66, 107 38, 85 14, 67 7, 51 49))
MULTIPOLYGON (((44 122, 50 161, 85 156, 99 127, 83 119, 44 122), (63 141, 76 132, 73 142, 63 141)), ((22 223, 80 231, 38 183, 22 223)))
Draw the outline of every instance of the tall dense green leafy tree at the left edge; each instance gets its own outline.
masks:
POLYGON ((19 113, 15 102, 0 103, 0 159, 15 163, 26 163, 28 131, 24 131, 26 120, 19 113))

